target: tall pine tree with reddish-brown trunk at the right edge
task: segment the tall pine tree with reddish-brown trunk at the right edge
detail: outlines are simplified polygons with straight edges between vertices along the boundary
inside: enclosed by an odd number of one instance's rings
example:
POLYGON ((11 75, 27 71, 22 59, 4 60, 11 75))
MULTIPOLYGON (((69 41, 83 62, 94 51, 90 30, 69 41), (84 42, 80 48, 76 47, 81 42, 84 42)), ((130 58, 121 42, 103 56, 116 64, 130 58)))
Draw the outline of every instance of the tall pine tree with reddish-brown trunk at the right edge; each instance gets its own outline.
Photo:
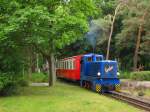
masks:
MULTIPOLYGON (((146 52, 143 51, 143 44, 149 43, 150 27, 148 20, 150 15, 147 12, 150 9, 150 5, 148 0, 131 0, 127 5, 128 7, 123 10, 123 29, 118 34, 118 43, 122 46, 120 47, 120 51, 123 48, 126 48, 126 51, 128 49, 124 55, 130 55, 130 58, 133 57, 131 62, 133 63, 133 70, 136 71, 141 63, 140 60, 144 60, 141 58, 144 56, 146 59, 149 56, 147 50, 146 52)), ((148 44, 145 44, 145 46, 149 48, 148 44)))

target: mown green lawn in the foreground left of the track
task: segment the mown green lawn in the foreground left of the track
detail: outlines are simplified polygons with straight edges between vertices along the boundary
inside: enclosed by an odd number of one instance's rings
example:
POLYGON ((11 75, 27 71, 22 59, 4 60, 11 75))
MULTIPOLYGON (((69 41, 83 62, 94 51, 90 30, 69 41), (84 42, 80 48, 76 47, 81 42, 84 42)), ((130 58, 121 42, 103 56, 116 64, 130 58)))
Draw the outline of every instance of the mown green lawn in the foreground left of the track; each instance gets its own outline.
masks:
POLYGON ((0 97, 0 112, 141 112, 75 85, 25 87, 19 96, 0 97))

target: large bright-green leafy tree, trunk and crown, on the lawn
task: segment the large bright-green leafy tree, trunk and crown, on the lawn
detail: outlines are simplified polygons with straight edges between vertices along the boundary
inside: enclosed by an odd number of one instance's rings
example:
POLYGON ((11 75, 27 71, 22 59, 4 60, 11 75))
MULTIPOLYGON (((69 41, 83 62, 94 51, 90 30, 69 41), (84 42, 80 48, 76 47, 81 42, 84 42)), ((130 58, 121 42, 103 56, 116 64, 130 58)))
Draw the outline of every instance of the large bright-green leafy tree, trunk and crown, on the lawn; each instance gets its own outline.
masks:
POLYGON ((55 1, 12 1, 17 7, 9 14, 4 34, 15 35, 19 44, 35 48, 49 64, 49 85, 53 85, 55 68, 54 55, 57 48, 63 48, 81 38, 88 30, 88 17, 96 14, 93 1, 79 0, 68 3, 55 1), (12 28, 10 28, 10 26, 12 28))

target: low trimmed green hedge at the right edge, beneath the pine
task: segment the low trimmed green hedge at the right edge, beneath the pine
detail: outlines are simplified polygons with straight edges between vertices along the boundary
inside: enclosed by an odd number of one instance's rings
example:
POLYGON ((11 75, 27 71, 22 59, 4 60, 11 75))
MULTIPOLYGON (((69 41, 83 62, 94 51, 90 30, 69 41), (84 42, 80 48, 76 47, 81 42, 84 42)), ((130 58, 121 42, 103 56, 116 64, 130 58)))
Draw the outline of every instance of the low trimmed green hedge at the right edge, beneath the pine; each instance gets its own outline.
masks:
POLYGON ((132 72, 131 79, 140 81, 150 81, 150 71, 132 72))

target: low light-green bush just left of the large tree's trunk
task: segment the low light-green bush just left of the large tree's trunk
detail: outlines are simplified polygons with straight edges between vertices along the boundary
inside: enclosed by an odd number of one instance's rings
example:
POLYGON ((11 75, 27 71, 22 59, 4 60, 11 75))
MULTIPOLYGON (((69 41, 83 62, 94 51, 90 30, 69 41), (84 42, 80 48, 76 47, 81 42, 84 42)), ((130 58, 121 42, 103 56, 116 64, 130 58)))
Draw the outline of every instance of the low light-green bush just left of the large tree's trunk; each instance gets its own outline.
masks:
POLYGON ((43 73, 33 73, 31 76, 32 82, 47 82, 48 75, 43 73))

